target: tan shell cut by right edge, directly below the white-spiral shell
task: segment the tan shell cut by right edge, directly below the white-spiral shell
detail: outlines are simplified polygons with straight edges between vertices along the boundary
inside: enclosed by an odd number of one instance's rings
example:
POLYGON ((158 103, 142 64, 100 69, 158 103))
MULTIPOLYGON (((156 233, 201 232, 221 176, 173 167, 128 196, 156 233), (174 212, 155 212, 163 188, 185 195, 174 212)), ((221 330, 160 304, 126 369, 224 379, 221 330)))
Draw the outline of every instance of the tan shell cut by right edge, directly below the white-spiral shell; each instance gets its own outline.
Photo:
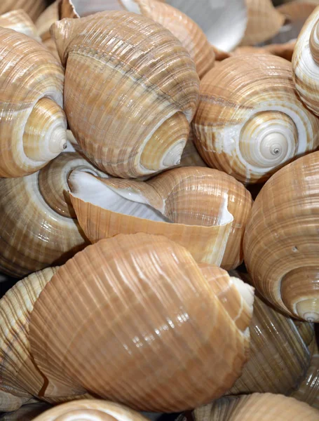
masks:
POLYGON ((244 255, 253 285, 290 316, 319 321, 319 152, 282 168, 252 206, 244 255))

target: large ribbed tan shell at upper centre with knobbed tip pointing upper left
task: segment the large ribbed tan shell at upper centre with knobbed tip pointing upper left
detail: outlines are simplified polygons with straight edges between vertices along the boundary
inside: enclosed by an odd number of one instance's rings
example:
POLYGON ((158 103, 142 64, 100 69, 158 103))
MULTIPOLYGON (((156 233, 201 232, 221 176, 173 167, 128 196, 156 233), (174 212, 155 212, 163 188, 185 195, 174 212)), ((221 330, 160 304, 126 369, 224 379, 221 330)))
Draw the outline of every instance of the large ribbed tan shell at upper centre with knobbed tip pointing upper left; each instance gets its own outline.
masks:
POLYGON ((123 178, 177 165, 199 79, 175 36, 125 11, 64 19, 51 31, 66 66, 69 126, 88 159, 123 178))

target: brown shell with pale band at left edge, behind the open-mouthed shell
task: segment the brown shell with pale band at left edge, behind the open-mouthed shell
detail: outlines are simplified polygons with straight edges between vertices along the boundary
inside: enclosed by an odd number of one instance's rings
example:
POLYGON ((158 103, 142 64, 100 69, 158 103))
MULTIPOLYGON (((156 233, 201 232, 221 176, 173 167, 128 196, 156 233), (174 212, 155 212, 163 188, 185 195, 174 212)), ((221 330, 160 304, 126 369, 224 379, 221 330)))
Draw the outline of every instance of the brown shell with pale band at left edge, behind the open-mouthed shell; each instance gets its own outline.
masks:
POLYGON ((0 272, 25 276, 62 264, 86 246, 67 194, 67 177, 76 168, 100 174, 70 152, 27 177, 0 178, 0 272))

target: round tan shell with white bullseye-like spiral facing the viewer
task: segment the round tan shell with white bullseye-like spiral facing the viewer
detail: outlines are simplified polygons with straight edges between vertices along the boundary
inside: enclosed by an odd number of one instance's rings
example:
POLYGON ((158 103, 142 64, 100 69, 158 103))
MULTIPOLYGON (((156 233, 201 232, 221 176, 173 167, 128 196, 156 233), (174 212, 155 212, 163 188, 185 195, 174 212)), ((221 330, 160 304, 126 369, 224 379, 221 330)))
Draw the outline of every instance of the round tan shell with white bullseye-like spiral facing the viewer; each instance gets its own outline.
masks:
POLYGON ((195 145, 213 168, 262 182, 319 145, 319 119, 299 99, 291 64, 269 55, 228 58, 201 80, 195 145))

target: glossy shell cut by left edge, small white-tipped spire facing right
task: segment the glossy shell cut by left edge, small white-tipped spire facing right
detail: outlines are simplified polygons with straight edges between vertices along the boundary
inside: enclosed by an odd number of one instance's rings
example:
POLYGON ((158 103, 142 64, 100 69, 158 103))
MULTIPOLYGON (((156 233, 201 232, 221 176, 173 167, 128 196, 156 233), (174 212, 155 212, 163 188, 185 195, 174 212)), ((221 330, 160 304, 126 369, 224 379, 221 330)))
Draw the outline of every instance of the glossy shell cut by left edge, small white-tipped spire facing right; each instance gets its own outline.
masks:
POLYGON ((0 28, 0 44, 0 177, 22 177, 66 147, 63 70, 29 36, 0 28))

